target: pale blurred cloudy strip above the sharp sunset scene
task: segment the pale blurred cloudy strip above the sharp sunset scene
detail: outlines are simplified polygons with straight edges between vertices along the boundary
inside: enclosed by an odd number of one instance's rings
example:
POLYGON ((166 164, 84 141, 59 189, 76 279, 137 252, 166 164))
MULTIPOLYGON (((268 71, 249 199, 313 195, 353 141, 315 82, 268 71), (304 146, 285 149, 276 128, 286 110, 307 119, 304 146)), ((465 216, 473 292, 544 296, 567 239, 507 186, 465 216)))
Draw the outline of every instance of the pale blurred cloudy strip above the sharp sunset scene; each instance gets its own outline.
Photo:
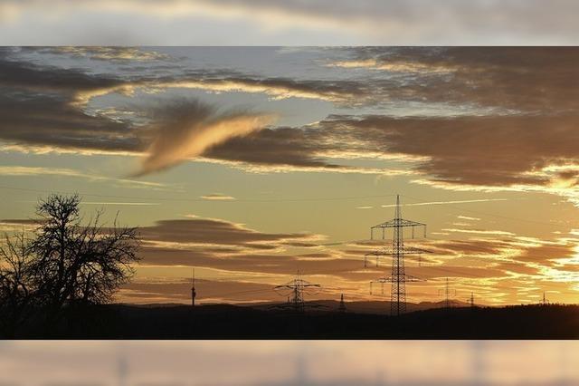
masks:
POLYGON ((4 0, 0 10, 12 27, 7 31, 15 29, 6 45, 71 39, 85 45, 303 45, 336 43, 336 36, 378 45, 573 44, 578 32, 573 0, 553 0, 548 7, 540 0, 4 0), (40 34, 26 28, 31 20, 40 34), (119 34, 102 34, 103 24, 119 34), (207 25, 212 36, 203 34, 207 25))

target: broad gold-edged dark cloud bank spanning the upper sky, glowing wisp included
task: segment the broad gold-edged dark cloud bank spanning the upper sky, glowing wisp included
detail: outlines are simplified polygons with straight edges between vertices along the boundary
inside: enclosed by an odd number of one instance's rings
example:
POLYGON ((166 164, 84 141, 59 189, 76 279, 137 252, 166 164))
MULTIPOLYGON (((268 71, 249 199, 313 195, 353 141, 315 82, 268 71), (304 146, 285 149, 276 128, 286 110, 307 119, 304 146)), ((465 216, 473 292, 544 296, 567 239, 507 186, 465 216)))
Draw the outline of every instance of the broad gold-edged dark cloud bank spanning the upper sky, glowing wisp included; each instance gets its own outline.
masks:
POLYGON ((373 71, 386 76, 292 80, 207 70, 122 79, 18 62, 14 49, 5 49, 0 53, 0 139, 30 148, 146 152, 139 175, 196 157, 259 172, 413 174, 417 182, 441 188, 539 190, 579 197, 574 149, 579 91, 568 83, 579 75, 579 50, 355 47, 343 49, 343 54, 365 65, 397 66, 397 74, 379 69, 373 71), (438 71, 441 67, 449 71, 438 71), (330 115, 302 127, 274 128, 267 127, 273 122, 270 114, 222 111, 196 101, 132 106, 135 119, 90 108, 97 95, 173 87, 318 98, 353 106, 424 101, 459 106, 462 112, 330 115), (481 115, 472 106, 489 110, 481 115), (364 159, 389 164, 359 166, 356 161, 364 159))

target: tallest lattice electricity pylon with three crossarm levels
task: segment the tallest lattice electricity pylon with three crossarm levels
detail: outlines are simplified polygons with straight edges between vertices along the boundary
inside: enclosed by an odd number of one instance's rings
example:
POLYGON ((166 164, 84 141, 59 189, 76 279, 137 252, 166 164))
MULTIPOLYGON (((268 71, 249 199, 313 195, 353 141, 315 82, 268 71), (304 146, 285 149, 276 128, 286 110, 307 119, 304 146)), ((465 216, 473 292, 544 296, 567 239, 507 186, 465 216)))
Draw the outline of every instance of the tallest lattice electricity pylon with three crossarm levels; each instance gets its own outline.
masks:
MULTIPOLYGON (((421 255, 428 253, 421 248, 404 246, 404 228, 410 227, 412 229, 412 237, 414 237, 414 228, 422 227, 424 237, 426 237, 426 224, 416 221, 406 220, 402 218, 402 210, 400 208, 400 196, 396 195, 396 208, 394 211, 394 219, 378 224, 370 228, 370 239, 374 239, 375 229, 382 229, 382 239, 386 238, 386 229, 392 228, 392 247, 385 246, 380 250, 370 252, 365 255, 364 263, 366 265, 367 256, 376 257, 376 266, 378 265, 378 258, 381 256, 392 256, 392 273, 390 276, 381 277, 373 281, 374 283, 392 283, 392 291, 390 294, 390 314, 400 315, 406 312, 406 283, 422 281, 417 277, 406 275, 404 271, 404 256, 407 255, 421 255)), ((372 282, 370 283, 372 285, 372 282)))

